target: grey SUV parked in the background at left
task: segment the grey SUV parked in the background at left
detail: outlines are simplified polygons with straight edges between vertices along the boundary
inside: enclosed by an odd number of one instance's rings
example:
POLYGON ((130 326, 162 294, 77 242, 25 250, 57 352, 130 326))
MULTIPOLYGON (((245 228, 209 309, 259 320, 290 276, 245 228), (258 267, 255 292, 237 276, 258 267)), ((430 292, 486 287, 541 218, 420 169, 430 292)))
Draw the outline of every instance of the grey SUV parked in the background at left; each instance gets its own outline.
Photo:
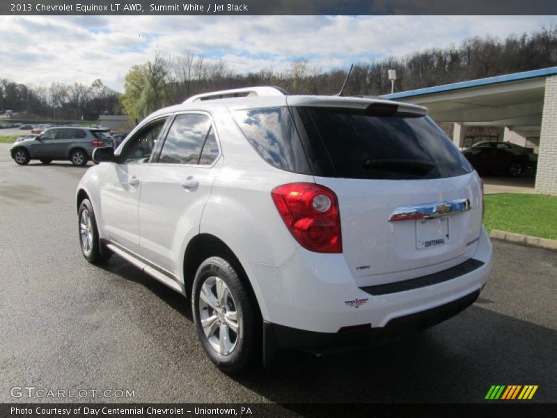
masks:
POLYGON ((53 160, 70 160, 76 166, 85 166, 93 150, 111 145, 108 130, 90 127, 53 127, 37 137, 19 141, 10 148, 12 158, 19 165, 29 160, 49 164, 53 160))

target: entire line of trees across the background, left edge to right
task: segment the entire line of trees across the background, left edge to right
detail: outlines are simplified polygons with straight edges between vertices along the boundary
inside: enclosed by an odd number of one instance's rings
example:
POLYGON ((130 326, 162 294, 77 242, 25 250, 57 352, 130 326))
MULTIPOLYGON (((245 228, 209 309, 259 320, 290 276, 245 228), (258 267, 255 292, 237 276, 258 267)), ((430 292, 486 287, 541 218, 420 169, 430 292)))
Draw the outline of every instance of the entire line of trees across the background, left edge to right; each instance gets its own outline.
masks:
MULTIPOLYGON (((476 37, 448 48, 355 63, 345 95, 390 93, 389 69, 397 72, 395 91, 406 91, 555 65, 557 28, 542 28, 504 40, 476 37)), ((303 59, 292 61, 282 72, 263 69, 237 74, 222 59, 207 59, 192 52, 172 55, 159 51, 146 63, 130 69, 122 94, 107 88, 101 80, 91 86, 52 83, 49 88, 27 88, 2 80, 0 98, 3 109, 39 115, 58 111, 67 118, 76 112, 84 118, 97 118, 104 111, 123 112, 134 123, 156 109, 207 91, 273 85, 291 94, 330 95, 338 93, 346 75, 347 68, 323 71, 303 59)))

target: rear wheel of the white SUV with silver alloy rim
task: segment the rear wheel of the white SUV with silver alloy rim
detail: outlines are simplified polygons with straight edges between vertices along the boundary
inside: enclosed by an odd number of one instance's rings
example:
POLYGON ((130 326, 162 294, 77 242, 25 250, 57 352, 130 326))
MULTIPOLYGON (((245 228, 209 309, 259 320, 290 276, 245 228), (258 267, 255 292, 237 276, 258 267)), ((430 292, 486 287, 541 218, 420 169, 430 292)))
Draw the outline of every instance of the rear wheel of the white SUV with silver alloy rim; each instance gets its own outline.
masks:
MULTIPOLYGON (((234 374, 245 369, 249 362, 255 358, 260 324, 258 324, 256 316, 256 307, 253 306, 251 297, 244 284, 242 284, 233 264, 222 257, 207 258, 196 272, 191 295, 194 323, 196 324, 199 341, 201 341, 207 356, 225 373, 234 374), (201 297, 202 288, 205 295, 207 295, 207 291, 211 292, 212 295, 217 295, 216 288, 219 284, 215 282, 213 285, 214 279, 221 280, 228 290, 228 294, 225 293, 226 295, 222 300, 219 301, 219 297, 212 300, 217 305, 216 309, 212 309, 210 304, 201 297), (203 286, 204 284, 205 286, 203 286), (222 303, 224 300, 226 302, 222 303), (232 309, 235 309, 235 311, 232 309), (234 332, 232 326, 234 316, 228 317, 233 312, 235 312, 237 332, 234 332), (213 320, 213 323, 215 323, 214 332, 210 336, 207 336, 203 330, 202 315, 205 321, 207 318, 216 318, 213 320), (232 324, 228 326, 230 322, 232 324), (221 340, 221 335, 225 336, 224 341, 228 341, 233 346, 228 353, 226 350, 225 353, 217 351, 226 346, 226 343, 221 340), (228 339, 226 335, 228 335, 228 339), (215 339, 219 340, 218 343, 215 339), (215 348, 216 344, 220 348, 215 348)), ((207 324, 207 322, 205 323, 207 324)))

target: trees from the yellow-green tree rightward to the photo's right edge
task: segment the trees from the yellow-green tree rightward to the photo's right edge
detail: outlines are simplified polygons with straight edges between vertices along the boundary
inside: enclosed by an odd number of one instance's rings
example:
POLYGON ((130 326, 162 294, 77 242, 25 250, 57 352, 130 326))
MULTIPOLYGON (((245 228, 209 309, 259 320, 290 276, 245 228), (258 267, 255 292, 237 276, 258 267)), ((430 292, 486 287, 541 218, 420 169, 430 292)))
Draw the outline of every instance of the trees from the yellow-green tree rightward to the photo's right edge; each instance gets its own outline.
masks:
MULTIPOLYGON (((397 73, 395 91, 407 91, 554 65, 557 65, 557 28, 542 28, 505 40, 476 37, 458 46, 355 63, 345 95, 390 93, 389 69, 397 73)), ((283 72, 260 70, 240 75, 221 59, 209 60, 191 52, 178 56, 157 52, 154 59, 128 72, 122 104, 125 113, 138 120, 191 95, 226 88, 273 85, 291 94, 335 94, 346 75, 347 68, 322 71, 307 60, 292 61, 290 68, 283 72)))

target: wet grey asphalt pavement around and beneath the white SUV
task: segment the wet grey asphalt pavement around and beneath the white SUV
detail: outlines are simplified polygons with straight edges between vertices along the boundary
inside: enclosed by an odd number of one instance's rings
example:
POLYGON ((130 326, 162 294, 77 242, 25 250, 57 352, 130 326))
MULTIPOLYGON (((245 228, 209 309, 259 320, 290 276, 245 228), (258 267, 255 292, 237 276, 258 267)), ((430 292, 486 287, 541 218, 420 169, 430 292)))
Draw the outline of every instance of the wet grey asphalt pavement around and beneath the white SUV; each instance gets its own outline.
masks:
POLYGON ((459 316, 363 352, 295 353, 229 377, 205 357, 182 296, 117 256, 104 268, 81 256, 74 190, 85 169, 19 167, 6 152, 0 403, 475 403, 491 385, 538 385, 530 402, 557 401, 555 252, 494 242, 488 284, 459 316), (134 396, 13 397, 13 387, 134 396))

